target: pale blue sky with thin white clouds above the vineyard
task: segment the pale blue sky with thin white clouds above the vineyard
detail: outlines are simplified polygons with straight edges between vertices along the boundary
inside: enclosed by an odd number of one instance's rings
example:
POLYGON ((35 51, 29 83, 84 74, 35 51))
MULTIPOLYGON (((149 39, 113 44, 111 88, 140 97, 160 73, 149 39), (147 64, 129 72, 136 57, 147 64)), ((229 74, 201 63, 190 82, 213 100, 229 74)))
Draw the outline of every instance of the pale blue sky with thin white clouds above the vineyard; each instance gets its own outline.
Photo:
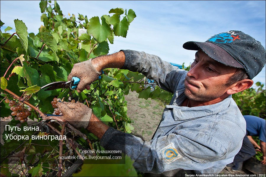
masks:
MULTIPOLYGON (((145 51, 163 60, 189 65, 195 51, 185 50, 187 41, 206 41, 229 30, 240 30, 265 47, 266 1, 57 1, 63 14, 101 17, 112 8, 133 9, 137 17, 126 38, 115 37, 109 53, 121 49, 145 51)), ((1 1, 4 27, 14 28, 14 19, 22 20, 28 32, 38 33, 40 1, 1 1)), ((52 1, 53 4, 53 1, 52 1)), ((253 80, 265 84, 265 67, 253 80)), ((266 84, 265 84, 266 85, 266 84)))

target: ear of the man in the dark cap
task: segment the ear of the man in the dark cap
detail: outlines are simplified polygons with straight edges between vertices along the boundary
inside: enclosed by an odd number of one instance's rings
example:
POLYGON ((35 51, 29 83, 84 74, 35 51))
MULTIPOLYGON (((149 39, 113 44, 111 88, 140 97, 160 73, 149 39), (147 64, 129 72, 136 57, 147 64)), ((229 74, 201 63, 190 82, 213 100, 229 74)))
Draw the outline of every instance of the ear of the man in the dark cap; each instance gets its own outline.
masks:
POLYGON ((251 79, 244 79, 242 81, 238 81, 236 83, 234 83, 233 85, 231 85, 229 87, 229 89, 226 91, 227 94, 232 95, 235 94, 237 92, 246 90, 248 88, 250 88, 253 85, 253 81, 251 79))

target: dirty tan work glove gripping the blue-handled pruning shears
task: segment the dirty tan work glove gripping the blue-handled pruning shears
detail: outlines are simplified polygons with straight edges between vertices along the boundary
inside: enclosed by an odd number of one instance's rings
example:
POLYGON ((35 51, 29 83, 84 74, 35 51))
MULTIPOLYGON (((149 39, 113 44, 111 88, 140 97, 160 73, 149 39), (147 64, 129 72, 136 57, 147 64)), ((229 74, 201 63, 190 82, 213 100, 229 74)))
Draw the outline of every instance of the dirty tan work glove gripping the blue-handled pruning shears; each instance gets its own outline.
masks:
POLYGON ((74 64, 71 73, 67 77, 68 81, 70 81, 74 76, 80 78, 80 83, 77 85, 77 92, 79 93, 85 90, 87 85, 90 85, 93 81, 98 80, 101 75, 100 72, 95 70, 91 60, 92 59, 74 64))

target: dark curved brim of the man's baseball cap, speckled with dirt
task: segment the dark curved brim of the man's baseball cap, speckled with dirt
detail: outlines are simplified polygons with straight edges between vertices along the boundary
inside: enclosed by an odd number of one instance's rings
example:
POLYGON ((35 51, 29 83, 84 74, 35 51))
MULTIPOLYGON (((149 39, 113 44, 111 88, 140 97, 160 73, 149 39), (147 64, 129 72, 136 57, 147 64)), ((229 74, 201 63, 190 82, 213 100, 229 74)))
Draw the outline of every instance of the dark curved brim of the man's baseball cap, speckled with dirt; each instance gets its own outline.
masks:
POLYGON ((237 60, 235 60, 229 53, 223 48, 215 45, 211 42, 194 42, 189 41, 183 44, 183 48, 187 50, 202 50, 210 58, 227 66, 234 68, 244 68, 237 60))

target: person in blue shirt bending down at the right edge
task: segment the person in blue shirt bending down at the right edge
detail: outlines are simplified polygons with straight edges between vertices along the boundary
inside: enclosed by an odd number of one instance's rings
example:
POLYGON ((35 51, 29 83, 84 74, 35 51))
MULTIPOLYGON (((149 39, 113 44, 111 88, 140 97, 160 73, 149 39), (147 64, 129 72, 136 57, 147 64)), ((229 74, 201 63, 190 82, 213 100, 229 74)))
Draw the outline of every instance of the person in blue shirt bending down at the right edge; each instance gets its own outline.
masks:
POLYGON ((251 116, 251 115, 245 115, 244 116, 246 120, 246 136, 243 139, 243 144, 242 147, 237 153, 237 155, 234 158, 233 163, 228 164, 226 167, 228 171, 233 171, 233 173, 244 173, 242 171, 242 166, 243 162, 251 158, 256 154, 256 150, 261 151, 263 154, 263 159, 261 163, 263 165, 266 164, 265 160, 265 149, 266 149, 266 139, 265 139, 265 134, 266 134, 266 129, 265 129, 265 124, 266 121, 265 119, 262 119, 257 116, 251 116), (252 138, 252 136, 257 136, 259 137, 260 143, 259 145, 257 142, 252 138), (255 150, 256 148, 256 150, 255 150), (229 168, 228 168, 229 167, 229 168))

